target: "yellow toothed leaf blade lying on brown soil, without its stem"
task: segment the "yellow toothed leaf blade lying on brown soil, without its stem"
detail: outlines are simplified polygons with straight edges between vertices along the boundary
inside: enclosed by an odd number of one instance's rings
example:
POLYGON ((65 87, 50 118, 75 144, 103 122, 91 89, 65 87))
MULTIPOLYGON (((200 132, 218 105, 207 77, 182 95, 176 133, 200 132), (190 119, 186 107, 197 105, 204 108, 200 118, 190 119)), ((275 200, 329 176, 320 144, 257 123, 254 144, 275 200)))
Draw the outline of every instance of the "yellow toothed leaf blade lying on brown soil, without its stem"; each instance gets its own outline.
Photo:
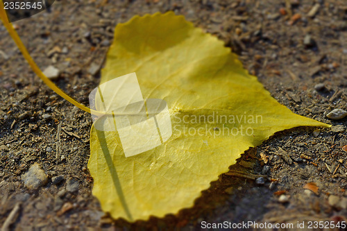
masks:
POLYGON ((328 126, 280 105, 223 42, 173 12, 117 25, 101 83, 133 72, 144 99, 167 102, 173 134, 125 157, 117 132, 92 127, 93 194, 115 219, 146 220, 192 207, 211 181, 274 132, 328 126))

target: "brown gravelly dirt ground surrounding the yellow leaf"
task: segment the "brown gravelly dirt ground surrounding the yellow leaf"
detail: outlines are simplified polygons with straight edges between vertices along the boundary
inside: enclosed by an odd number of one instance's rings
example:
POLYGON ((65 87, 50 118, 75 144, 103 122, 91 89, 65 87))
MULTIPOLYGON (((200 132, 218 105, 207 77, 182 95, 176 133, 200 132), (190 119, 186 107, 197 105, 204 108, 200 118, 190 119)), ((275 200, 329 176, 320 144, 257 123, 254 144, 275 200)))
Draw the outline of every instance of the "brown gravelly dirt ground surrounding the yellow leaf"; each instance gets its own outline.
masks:
POLYGON ((347 117, 326 117, 335 108, 347 110, 345 0, 56 1, 50 11, 14 25, 37 65, 59 69, 54 82, 88 105, 117 23, 168 10, 223 40, 278 102, 333 127, 278 132, 246 151, 194 207, 179 214, 112 221, 91 194, 90 114, 46 87, 1 25, 0 224, 11 211, 13 230, 200 230, 202 221, 346 221, 347 117), (35 163, 48 182, 28 189, 22 178, 35 163), (272 180, 255 181, 260 175, 272 180))

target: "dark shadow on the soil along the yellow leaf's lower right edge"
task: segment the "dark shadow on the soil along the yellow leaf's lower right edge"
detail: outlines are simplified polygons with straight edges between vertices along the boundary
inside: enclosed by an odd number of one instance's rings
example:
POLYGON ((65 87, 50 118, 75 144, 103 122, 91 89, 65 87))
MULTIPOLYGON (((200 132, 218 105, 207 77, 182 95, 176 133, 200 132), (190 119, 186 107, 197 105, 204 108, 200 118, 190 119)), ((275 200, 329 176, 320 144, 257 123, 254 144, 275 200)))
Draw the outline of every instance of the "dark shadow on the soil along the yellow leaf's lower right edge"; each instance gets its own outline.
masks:
MULTIPOLYGON (((247 174, 253 174, 254 169, 261 169, 256 152, 256 148, 248 149, 237 160, 237 164, 230 166, 229 173, 237 171, 238 173, 244 173, 246 176, 247 174), (239 164, 240 162, 243 165, 245 162, 250 163, 252 169, 249 166, 242 166, 239 164)), ((255 186, 255 180, 228 176, 228 173, 224 173, 219 176, 219 180, 211 182, 209 189, 202 191, 201 196, 194 201, 193 207, 182 209, 176 215, 168 214, 163 218, 151 216, 148 221, 130 223, 124 219, 117 219, 114 221, 114 225, 126 230, 153 230, 153 228, 171 230, 197 228, 201 219, 214 221, 214 219, 224 217, 226 221, 232 222, 252 221, 255 217, 264 214, 265 204, 272 195, 268 187, 255 186), (240 200, 243 200, 243 203, 238 206, 237 203, 240 200), (250 212, 250 209, 247 208, 251 206, 255 206, 253 212, 250 212), (260 209, 260 207, 262 208, 260 209), (248 216, 250 213, 251 216, 248 216)), ((103 225, 103 228, 110 226, 110 224, 103 225)))

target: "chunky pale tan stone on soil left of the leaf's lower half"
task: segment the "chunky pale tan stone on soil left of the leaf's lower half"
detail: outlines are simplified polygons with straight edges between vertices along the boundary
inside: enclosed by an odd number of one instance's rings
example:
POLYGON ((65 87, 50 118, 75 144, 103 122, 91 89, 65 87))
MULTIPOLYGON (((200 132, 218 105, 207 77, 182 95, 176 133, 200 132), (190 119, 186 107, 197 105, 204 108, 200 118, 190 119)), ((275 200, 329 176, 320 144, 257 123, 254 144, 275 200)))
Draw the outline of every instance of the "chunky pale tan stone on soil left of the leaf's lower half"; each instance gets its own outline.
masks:
POLYGON ((46 185, 48 178, 40 168, 40 165, 35 163, 30 167, 29 171, 24 173, 22 180, 28 189, 38 189, 46 185))

